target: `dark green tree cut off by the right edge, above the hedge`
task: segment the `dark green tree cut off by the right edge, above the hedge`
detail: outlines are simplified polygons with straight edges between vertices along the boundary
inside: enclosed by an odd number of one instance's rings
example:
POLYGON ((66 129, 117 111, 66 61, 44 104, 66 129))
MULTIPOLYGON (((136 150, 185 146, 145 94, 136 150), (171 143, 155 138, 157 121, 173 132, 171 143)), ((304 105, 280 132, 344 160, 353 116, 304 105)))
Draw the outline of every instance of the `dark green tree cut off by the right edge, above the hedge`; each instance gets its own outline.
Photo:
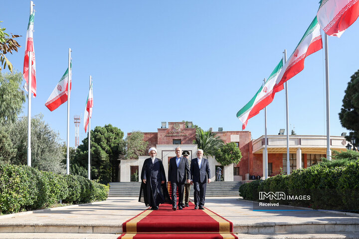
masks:
POLYGON ((343 127, 353 131, 346 136, 347 140, 354 136, 359 142, 359 71, 348 82, 339 119, 343 127))

